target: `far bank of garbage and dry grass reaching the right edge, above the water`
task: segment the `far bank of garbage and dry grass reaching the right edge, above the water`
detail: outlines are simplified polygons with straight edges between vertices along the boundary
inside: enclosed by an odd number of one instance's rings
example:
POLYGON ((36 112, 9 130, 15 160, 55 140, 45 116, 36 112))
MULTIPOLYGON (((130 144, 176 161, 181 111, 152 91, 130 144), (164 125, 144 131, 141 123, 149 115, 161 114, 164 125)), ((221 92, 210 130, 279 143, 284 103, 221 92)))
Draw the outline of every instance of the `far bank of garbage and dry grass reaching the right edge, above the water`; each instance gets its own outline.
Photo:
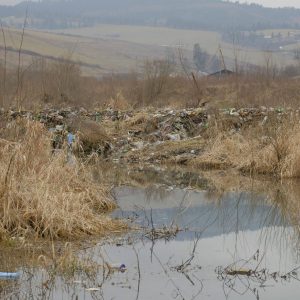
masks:
MULTIPOLYGON (((40 118, 48 127, 54 122, 47 111, 25 111, 13 113, 4 126, 10 126, 14 115, 40 118)), ((79 146, 72 147, 75 154, 96 153, 129 164, 235 169, 277 178, 300 176, 300 118, 295 109, 107 109, 53 115, 76 135, 79 146)))

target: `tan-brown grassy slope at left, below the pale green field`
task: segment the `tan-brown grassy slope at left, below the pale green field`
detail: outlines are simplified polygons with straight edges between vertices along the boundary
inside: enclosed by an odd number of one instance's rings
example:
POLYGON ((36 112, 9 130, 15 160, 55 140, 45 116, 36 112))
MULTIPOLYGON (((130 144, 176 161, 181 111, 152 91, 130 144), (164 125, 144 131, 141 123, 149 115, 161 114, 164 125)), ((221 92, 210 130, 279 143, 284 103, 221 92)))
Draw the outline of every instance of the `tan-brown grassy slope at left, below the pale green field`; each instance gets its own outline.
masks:
MULTIPOLYGON (((21 31, 9 29, 6 31, 8 47, 18 49, 21 41, 21 31)), ((0 45, 3 38, 0 36, 0 45)), ((86 74, 101 75, 110 72, 129 72, 136 68, 146 57, 163 57, 164 49, 157 46, 148 46, 124 41, 94 39, 89 37, 66 36, 41 31, 26 30, 22 49, 49 57, 69 57, 85 64, 94 65, 85 67, 86 74)), ((0 51, 0 57, 3 54, 0 51)), ((16 63, 16 54, 11 53, 9 63, 16 63)), ((23 55, 26 62, 28 55, 23 55)))

